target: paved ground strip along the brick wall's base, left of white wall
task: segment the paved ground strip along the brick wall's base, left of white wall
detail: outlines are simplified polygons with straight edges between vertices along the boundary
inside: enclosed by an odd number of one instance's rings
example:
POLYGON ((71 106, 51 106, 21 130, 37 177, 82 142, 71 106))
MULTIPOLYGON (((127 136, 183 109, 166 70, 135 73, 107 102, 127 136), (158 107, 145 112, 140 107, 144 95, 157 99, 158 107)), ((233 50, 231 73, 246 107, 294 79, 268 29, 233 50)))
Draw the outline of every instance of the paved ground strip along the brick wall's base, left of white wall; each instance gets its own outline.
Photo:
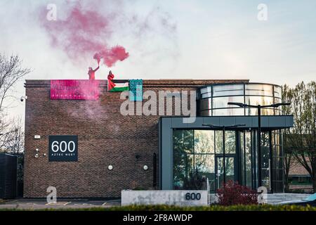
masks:
POLYGON ((66 209, 66 208, 91 208, 91 207, 113 207, 120 206, 121 200, 78 200, 67 199, 58 200, 57 203, 47 203, 46 200, 32 200, 32 199, 17 199, 5 200, 0 203, 0 209, 24 209, 24 210, 45 210, 66 209))

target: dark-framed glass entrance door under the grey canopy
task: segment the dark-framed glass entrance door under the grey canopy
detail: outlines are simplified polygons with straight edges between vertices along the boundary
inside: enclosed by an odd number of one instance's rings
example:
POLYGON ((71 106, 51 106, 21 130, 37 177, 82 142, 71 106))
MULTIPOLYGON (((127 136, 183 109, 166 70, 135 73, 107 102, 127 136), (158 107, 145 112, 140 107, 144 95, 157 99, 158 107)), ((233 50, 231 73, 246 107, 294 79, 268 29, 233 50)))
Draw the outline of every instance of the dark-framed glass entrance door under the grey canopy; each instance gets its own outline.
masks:
MULTIPOLYGON (((216 172, 216 189, 221 188, 224 182, 224 158, 216 156, 215 172, 216 172)), ((235 155, 225 155, 225 179, 228 181, 236 181, 236 160, 235 155)))

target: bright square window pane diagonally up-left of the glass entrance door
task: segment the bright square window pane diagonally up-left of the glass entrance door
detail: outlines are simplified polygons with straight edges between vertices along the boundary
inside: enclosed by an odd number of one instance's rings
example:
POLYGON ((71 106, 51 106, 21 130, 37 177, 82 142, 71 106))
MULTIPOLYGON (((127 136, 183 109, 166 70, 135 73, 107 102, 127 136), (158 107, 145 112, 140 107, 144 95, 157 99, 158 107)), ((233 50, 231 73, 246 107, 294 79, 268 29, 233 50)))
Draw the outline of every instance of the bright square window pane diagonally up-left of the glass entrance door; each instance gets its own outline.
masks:
POLYGON ((214 131, 195 130, 195 153, 214 153, 214 131))

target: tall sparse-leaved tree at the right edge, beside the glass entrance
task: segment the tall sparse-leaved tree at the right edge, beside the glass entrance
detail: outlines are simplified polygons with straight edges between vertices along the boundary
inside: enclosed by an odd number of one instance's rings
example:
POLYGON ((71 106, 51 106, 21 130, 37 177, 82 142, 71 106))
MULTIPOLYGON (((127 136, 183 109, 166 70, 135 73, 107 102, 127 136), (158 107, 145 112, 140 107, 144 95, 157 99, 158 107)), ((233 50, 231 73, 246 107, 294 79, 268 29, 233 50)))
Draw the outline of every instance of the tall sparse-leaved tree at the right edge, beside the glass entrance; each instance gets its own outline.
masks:
MULTIPOLYGON (((316 82, 301 82, 292 89, 284 85, 283 101, 291 101, 284 113, 294 115, 294 127, 284 131, 284 152, 308 171, 316 192, 316 82)), ((292 159, 286 160, 289 165, 292 159)))

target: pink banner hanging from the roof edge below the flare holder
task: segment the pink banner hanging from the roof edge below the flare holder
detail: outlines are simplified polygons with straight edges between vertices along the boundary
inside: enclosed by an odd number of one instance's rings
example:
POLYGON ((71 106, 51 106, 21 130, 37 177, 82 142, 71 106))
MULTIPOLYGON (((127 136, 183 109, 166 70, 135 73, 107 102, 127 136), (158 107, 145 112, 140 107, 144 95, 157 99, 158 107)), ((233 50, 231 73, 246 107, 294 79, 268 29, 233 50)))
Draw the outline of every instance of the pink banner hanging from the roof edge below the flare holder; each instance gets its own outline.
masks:
POLYGON ((51 99, 97 100, 99 94, 99 81, 95 79, 51 80, 51 99))

